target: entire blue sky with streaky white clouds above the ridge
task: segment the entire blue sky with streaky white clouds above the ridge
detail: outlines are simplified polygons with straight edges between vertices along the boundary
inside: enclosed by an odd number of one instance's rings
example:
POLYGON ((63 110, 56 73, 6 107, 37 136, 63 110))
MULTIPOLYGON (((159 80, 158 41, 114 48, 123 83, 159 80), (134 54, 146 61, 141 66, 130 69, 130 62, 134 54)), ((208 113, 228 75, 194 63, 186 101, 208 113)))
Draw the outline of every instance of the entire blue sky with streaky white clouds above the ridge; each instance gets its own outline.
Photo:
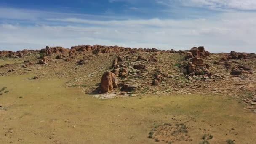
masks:
POLYGON ((256 0, 0 0, 0 50, 120 45, 256 52, 256 0))

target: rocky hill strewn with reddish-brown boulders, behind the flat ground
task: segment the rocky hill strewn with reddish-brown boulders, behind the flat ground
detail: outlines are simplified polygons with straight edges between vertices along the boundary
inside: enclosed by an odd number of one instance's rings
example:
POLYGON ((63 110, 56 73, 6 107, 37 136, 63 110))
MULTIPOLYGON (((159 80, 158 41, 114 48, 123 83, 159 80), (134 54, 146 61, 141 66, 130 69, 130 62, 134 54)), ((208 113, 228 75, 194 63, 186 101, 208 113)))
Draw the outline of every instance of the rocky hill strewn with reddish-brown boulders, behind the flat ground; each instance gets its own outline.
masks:
POLYGON ((64 87, 80 87, 99 98, 153 94, 235 96, 256 112, 256 54, 81 45, 69 48, 0 51, 0 76, 34 74, 33 79, 66 78, 64 87))

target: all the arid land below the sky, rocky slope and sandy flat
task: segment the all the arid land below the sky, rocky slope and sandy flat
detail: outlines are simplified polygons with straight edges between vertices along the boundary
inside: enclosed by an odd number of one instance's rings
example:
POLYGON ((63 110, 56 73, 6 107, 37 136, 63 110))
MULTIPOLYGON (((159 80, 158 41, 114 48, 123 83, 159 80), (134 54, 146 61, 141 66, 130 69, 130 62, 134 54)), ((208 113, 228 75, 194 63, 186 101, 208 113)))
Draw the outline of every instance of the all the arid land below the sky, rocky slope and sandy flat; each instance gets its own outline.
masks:
POLYGON ((255 144, 256 54, 0 51, 0 144, 255 144))

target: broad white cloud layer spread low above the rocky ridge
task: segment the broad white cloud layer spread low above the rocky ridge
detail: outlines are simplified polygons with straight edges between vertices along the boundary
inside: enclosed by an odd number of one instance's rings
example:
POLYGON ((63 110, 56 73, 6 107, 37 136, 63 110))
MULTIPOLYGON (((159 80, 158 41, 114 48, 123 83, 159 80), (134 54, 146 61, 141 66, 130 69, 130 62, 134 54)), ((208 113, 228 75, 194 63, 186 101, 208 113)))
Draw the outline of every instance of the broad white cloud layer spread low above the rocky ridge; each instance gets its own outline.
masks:
POLYGON ((0 24, 0 49, 85 44, 189 49, 203 45, 211 52, 256 52, 255 13, 229 12, 204 19, 101 20, 69 16, 44 16, 46 22, 37 21, 39 25, 0 24))

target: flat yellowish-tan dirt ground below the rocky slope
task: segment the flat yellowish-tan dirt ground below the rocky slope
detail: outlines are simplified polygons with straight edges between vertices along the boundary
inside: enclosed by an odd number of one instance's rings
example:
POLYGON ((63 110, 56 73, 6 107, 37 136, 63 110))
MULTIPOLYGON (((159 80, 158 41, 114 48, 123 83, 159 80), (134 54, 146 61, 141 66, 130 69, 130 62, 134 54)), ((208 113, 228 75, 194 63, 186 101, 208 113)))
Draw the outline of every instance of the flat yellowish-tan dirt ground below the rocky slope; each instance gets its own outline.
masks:
MULTIPOLYGON (((187 125, 191 142, 255 144, 256 115, 228 96, 140 95, 96 99, 67 79, 0 77, 0 144, 155 144, 148 133, 163 123, 187 125)), ((164 143, 164 142, 158 142, 164 143)))

